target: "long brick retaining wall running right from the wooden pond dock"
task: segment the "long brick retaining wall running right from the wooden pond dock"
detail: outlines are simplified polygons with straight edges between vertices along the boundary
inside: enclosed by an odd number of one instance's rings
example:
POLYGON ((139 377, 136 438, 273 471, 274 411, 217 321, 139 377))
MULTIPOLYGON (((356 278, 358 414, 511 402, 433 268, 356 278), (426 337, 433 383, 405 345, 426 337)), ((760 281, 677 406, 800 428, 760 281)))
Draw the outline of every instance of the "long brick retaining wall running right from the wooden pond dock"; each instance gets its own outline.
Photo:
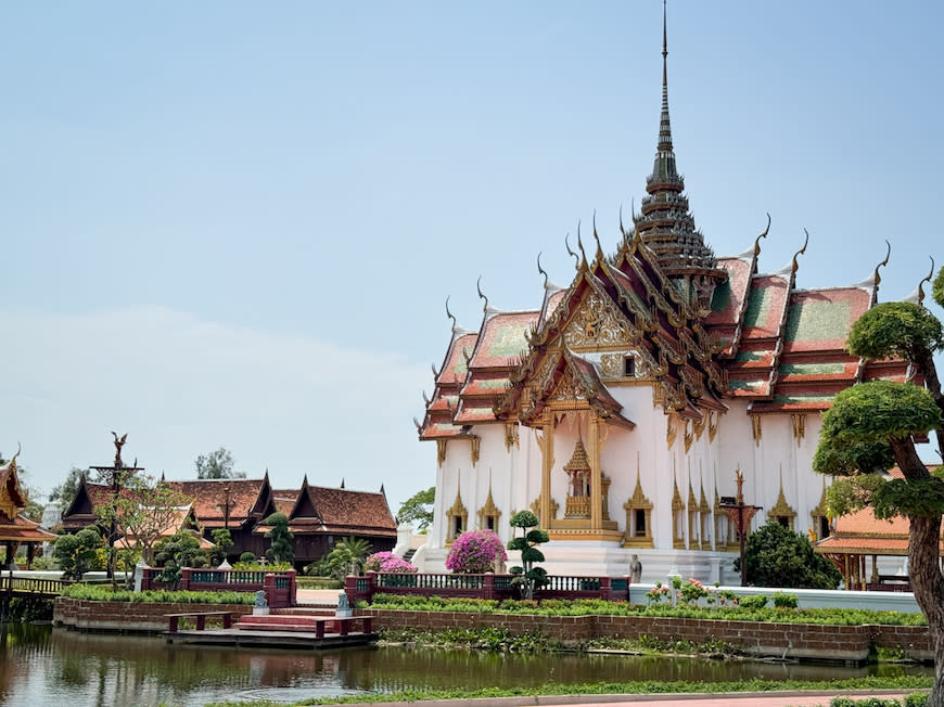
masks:
POLYGON ((933 659, 928 629, 923 626, 821 626, 649 616, 530 616, 393 609, 360 609, 358 614, 373 616, 377 630, 506 628, 516 635, 540 631, 563 642, 591 638, 638 640, 649 637, 700 644, 715 639, 751 655, 855 663, 865 663, 870 646, 876 646, 901 648, 905 656, 916 660, 933 659))

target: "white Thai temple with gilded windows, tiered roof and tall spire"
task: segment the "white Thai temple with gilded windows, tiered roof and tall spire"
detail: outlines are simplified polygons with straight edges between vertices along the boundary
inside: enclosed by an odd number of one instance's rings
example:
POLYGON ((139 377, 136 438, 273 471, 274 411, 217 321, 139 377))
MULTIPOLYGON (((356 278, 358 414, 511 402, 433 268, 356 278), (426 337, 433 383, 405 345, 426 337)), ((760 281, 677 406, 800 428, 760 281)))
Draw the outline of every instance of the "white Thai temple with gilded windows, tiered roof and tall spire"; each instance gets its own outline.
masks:
POLYGON ((577 253, 567 245, 566 286, 538 260, 533 309, 499 310, 480 288, 484 317, 470 331, 447 305, 451 337, 417 421, 437 450, 421 570, 444 571, 465 530, 507 542, 511 516, 530 509, 550 537, 549 574, 625 576, 637 555, 646 582, 738 583, 724 512, 738 476, 757 509, 751 527, 773 519, 825 538, 828 479, 812 470, 820 413, 858 381, 904 380, 902 362, 843 348, 877 301, 879 267, 857 284, 803 290, 805 244, 774 270, 760 257, 767 231, 739 255, 707 245, 672 144, 664 24, 662 56, 655 159, 632 221, 609 236, 595 224, 577 253))

